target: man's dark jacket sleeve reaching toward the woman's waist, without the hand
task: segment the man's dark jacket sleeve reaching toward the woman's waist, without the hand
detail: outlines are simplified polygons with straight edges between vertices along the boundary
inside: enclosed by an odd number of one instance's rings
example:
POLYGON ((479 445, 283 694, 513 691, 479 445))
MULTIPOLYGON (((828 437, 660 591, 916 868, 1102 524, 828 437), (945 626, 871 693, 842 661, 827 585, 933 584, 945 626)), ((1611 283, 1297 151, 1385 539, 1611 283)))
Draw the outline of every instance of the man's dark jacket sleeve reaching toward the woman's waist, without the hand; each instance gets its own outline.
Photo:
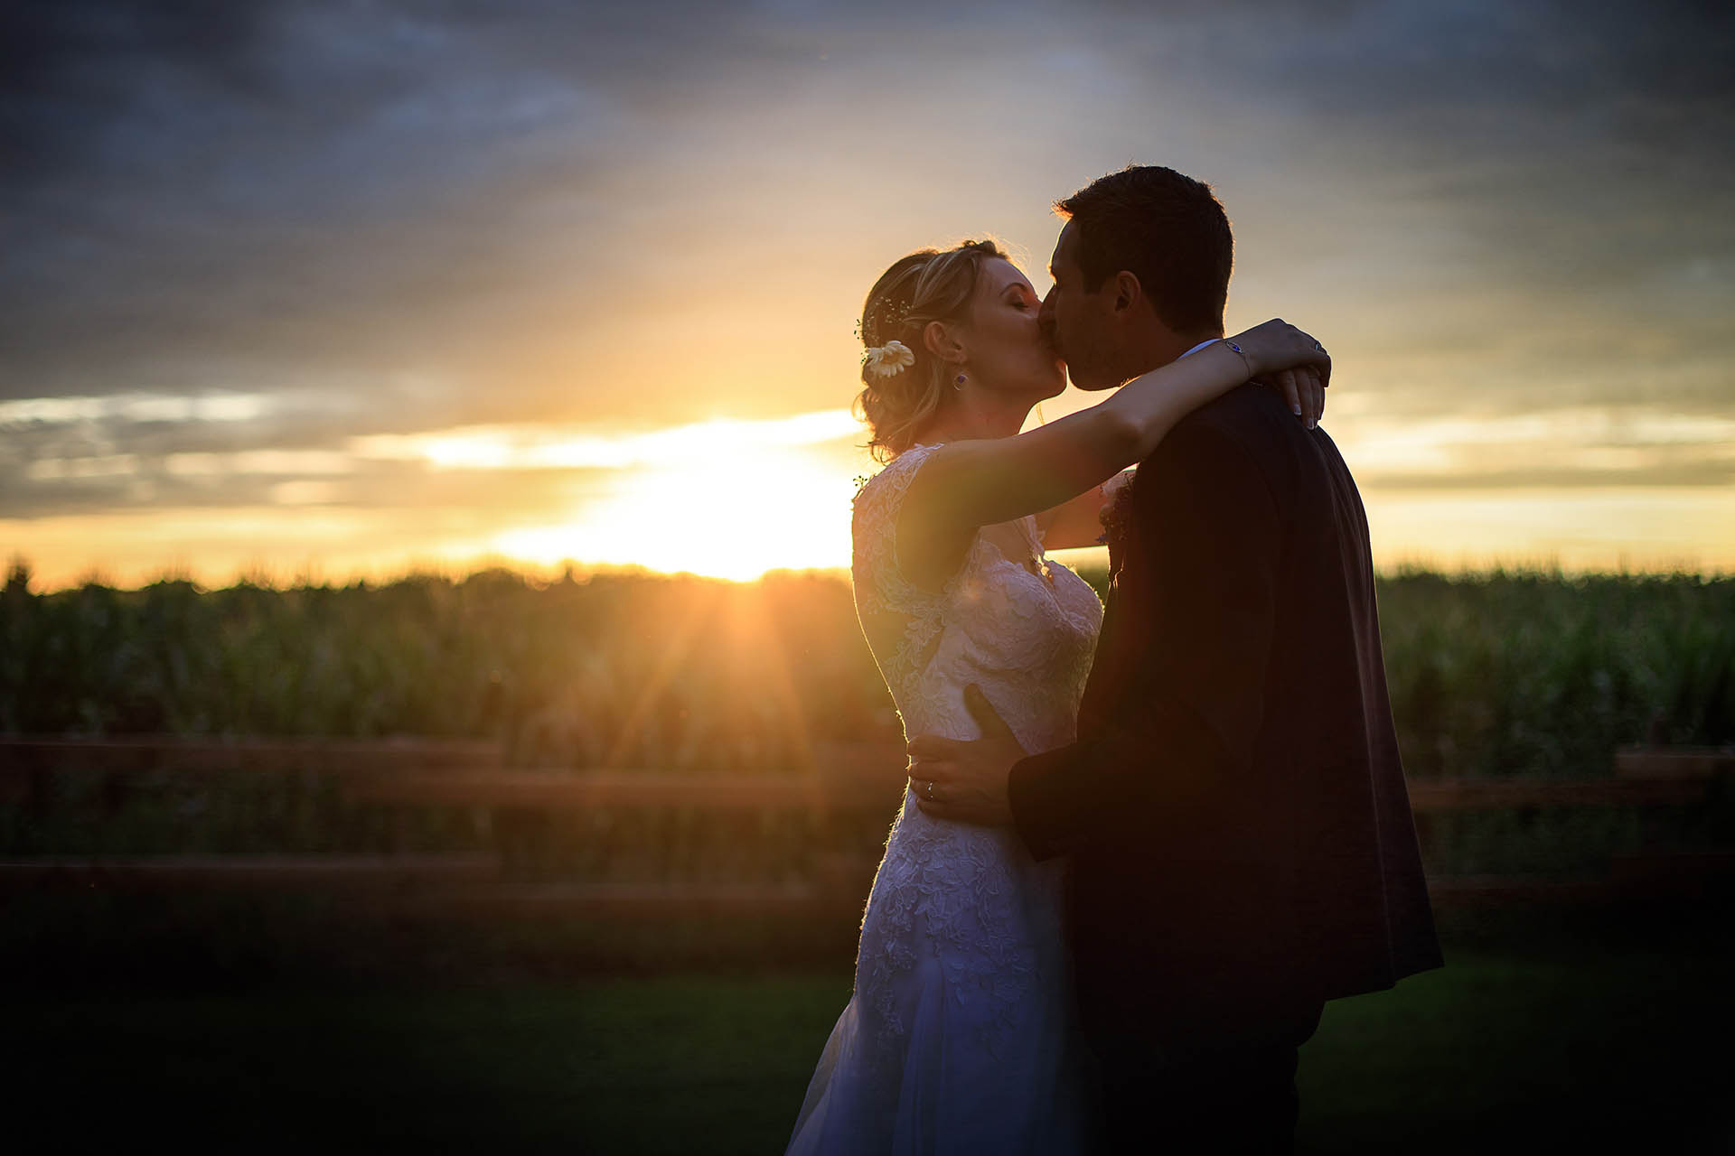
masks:
POLYGON ((1282 549, 1277 504, 1258 463, 1209 419, 1178 426, 1136 485, 1147 562, 1123 570, 1133 582, 1117 600, 1131 603, 1116 617, 1147 636, 1121 674, 1107 731, 1012 768, 1013 823, 1036 858, 1119 834, 1202 834, 1251 787, 1282 549))

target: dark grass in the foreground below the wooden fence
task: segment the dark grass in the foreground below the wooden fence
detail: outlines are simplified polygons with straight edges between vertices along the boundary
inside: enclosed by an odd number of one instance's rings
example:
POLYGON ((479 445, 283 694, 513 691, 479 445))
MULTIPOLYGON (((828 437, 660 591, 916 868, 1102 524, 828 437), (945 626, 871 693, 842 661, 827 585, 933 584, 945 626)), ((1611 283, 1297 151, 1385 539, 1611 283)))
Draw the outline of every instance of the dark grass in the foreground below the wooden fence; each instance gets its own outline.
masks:
MULTIPOLYGON (((1447 969, 1327 1007, 1303 1151, 1735 1151, 1726 932, 1508 922, 1449 929, 1447 969)), ((14 990, 7 1147, 777 1153, 847 998, 841 971, 14 990)))

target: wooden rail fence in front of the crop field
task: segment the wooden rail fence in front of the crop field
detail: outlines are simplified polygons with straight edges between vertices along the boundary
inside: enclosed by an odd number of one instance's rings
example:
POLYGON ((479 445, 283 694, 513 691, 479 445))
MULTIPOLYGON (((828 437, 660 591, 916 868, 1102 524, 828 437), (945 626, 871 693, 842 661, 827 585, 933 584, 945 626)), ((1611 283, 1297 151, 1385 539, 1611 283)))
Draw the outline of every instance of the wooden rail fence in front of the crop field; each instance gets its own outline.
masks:
MULTIPOLYGON (((1412 782, 1411 802, 1417 816, 1593 806, 1712 808, 1728 802, 1735 750, 1629 747, 1615 752, 1614 770, 1610 778, 1570 782, 1412 782)), ((371 854, 14 854, 0 860, 0 889, 300 887, 404 908, 536 917, 859 912, 904 782, 902 747, 892 744, 822 744, 802 771, 734 775, 507 768, 500 747, 488 742, 24 737, 0 738, 0 808, 10 808, 28 823, 49 806, 57 776, 78 773, 94 776, 94 789, 80 806, 95 811, 92 822, 101 822, 141 790, 149 792, 165 771, 206 776, 212 790, 250 773, 316 775, 335 780, 342 806, 389 820, 429 809, 468 815, 479 849, 420 854, 394 839, 385 853, 371 854), (663 851, 652 849, 652 858, 687 846, 678 832, 687 832, 691 844, 692 830, 717 823, 723 825, 722 842, 734 849, 769 841, 788 854, 772 872, 777 877, 751 877, 751 870, 741 879, 717 877, 699 863, 682 879, 562 879, 538 867, 538 856, 545 860, 548 846, 559 842, 553 835, 579 844, 586 832, 595 839, 618 837, 611 816, 632 815, 652 816, 647 822, 661 823, 658 830, 677 832, 663 851), (609 822, 600 827, 585 827, 586 820, 604 818, 609 822)), ((649 827, 640 823, 633 830, 642 844, 649 827)), ((1605 870, 1582 879, 1430 880, 1442 905, 1700 894, 1730 884, 1735 884, 1735 854, 1702 848, 1619 854, 1605 870)))

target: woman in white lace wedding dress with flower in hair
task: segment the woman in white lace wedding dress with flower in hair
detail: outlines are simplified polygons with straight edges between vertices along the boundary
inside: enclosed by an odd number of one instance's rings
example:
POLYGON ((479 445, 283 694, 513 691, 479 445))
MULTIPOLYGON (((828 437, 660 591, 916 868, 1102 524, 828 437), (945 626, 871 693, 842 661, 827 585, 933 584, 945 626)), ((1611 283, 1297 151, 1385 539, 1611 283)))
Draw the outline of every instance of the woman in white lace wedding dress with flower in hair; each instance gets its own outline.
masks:
MULTIPOLYGON (((1319 345, 1272 321, 1018 433, 1065 386, 1039 312, 992 241, 904 257, 862 308, 859 400, 890 464, 855 497, 852 577, 911 735, 973 738, 977 685, 1025 750, 1070 742, 1102 603, 1044 546, 1097 542, 1110 478, 1253 376, 1303 421, 1319 412, 1319 376, 1289 373, 1322 362, 1319 345)), ((1058 870, 1008 828, 935 820, 906 796, 791 1154, 1088 1149, 1058 870)))

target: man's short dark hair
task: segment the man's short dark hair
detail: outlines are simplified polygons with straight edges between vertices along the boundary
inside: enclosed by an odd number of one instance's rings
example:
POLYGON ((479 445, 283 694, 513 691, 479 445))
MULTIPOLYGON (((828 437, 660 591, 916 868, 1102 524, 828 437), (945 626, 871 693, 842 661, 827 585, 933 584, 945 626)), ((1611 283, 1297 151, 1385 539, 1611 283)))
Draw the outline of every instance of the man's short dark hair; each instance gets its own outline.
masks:
POLYGON ((1162 324, 1223 331, 1235 239, 1211 185, 1161 165, 1129 165, 1057 201, 1055 211, 1077 234, 1086 291, 1124 269, 1162 324))

